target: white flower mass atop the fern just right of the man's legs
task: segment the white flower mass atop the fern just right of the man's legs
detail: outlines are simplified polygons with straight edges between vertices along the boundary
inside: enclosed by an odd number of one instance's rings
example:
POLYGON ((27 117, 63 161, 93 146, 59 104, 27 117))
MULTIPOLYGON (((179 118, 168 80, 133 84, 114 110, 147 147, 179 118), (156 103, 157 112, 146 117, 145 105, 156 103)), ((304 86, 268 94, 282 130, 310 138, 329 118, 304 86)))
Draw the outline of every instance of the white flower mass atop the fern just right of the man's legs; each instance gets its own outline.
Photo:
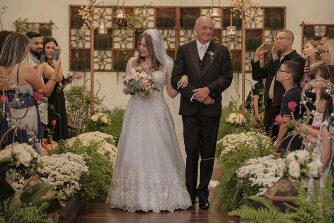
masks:
POLYGON ((221 156, 236 151, 239 143, 244 146, 254 147, 259 141, 267 147, 272 145, 271 139, 268 136, 258 134, 256 132, 242 132, 240 134, 226 135, 224 138, 217 142, 217 149, 221 148, 221 156))

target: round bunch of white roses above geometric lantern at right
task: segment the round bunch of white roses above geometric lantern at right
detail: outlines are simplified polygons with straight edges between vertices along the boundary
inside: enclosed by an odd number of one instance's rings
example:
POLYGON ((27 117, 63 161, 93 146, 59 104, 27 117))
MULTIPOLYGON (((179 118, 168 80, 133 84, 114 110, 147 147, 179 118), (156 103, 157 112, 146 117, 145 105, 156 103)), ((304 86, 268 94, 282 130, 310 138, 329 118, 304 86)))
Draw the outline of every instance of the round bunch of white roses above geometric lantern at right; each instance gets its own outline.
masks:
POLYGON ((288 153, 284 162, 284 177, 305 180, 319 178, 322 174, 322 162, 315 153, 308 150, 296 150, 288 153))

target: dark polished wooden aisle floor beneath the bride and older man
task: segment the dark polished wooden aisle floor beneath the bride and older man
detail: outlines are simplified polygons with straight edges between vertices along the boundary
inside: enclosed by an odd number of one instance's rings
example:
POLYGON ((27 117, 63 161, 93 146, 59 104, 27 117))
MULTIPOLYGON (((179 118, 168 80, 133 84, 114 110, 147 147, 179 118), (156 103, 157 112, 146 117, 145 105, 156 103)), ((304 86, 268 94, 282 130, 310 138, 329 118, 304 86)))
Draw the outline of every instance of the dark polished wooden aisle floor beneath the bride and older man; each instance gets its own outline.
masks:
MULTIPOLYGON (((216 165, 211 180, 218 181, 222 172, 222 167, 216 165)), ((209 201, 213 192, 210 191, 209 201)), ((187 210, 148 213, 109 209, 101 198, 94 200, 91 205, 88 211, 79 216, 76 223, 228 223, 230 220, 239 223, 239 218, 230 217, 227 211, 200 209, 198 202, 187 210)))

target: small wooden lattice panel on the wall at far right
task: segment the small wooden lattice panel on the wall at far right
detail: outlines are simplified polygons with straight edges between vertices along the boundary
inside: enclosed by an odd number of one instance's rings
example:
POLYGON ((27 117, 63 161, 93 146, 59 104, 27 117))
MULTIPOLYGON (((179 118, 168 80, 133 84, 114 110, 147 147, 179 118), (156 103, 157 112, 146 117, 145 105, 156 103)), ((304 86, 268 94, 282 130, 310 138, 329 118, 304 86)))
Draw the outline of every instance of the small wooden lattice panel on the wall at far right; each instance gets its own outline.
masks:
POLYGON ((301 33, 301 49, 304 48, 304 44, 310 40, 320 41, 326 33, 334 33, 334 24, 305 24, 304 21, 300 24, 301 33), (312 34, 313 35, 310 35, 312 34))

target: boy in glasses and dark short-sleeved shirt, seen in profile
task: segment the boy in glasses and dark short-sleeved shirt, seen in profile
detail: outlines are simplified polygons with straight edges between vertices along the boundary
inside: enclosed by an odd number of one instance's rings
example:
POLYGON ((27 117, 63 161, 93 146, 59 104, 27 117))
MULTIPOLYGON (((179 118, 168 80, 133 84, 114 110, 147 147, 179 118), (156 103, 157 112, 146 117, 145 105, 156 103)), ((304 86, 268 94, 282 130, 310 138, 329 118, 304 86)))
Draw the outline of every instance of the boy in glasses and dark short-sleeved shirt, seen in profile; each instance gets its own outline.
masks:
MULTIPOLYGON (((283 118, 283 122, 279 126, 279 132, 276 141, 274 142, 274 147, 279 146, 284 137, 288 135, 293 129, 289 128, 287 123, 292 119, 291 112, 293 109, 295 120, 298 120, 301 115, 299 114, 299 104, 301 92, 298 88, 298 84, 302 78, 302 69, 300 65, 295 61, 285 61, 280 69, 278 69, 276 74, 276 80, 281 82, 285 92, 283 93, 282 107, 280 111, 280 116, 283 118)), ((287 147, 292 137, 286 138, 282 143, 281 157, 285 156, 287 147)), ((302 139, 295 136, 291 143, 290 151, 298 150, 301 146, 302 139)))

